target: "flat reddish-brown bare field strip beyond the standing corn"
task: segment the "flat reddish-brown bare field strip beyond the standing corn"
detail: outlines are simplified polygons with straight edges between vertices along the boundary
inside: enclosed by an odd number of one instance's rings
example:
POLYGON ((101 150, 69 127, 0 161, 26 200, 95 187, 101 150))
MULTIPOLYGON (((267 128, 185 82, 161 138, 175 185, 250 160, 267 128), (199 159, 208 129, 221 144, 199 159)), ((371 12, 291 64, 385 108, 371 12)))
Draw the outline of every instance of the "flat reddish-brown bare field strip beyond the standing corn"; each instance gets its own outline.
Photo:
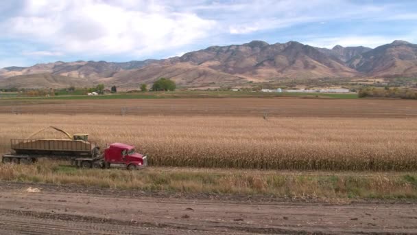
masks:
POLYGON ((211 115, 262 117, 417 117, 416 100, 193 98, 136 100, 0 100, 0 113, 211 115))

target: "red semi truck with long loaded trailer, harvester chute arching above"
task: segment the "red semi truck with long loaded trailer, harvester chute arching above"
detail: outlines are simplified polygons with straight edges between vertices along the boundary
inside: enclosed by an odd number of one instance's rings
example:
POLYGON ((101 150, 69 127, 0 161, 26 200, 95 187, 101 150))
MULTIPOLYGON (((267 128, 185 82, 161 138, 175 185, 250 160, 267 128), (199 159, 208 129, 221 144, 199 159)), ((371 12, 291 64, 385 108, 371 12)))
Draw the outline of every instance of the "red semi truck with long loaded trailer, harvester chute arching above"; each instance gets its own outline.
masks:
POLYGON ((14 153, 3 155, 3 163, 31 164, 40 157, 70 159, 71 165, 82 168, 110 168, 123 166, 134 170, 147 166, 147 156, 134 152, 134 146, 114 143, 100 153, 97 144, 88 141, 88 134, 69 135, 66 131, 49 126, 60 131, 69 139, 10 139, 10 148, 14 153))

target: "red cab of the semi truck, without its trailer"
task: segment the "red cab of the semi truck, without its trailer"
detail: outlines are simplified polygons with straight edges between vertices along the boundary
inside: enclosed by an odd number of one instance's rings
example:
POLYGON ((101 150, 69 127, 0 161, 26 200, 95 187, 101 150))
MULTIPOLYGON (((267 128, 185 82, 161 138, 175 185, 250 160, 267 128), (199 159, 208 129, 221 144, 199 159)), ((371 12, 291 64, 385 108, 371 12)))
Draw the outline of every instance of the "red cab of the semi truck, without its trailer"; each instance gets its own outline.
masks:
POLYGON ((147 156, 135 153, 134 146, 113 143, 104 150, 104 161, 106 164, 124 164, 128 168, 141 168, 147 165, 147 156))

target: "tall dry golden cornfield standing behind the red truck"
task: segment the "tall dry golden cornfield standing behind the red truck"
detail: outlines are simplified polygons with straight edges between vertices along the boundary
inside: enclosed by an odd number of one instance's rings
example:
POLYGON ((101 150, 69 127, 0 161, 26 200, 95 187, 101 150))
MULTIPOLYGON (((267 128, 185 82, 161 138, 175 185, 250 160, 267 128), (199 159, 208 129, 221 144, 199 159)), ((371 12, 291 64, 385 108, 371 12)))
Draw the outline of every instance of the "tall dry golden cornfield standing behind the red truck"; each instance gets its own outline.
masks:
POLYGON ((152 166, 417 170, 417 120, 399 118, 0 114, 0 150, 50 125, 133 144, 152 166))

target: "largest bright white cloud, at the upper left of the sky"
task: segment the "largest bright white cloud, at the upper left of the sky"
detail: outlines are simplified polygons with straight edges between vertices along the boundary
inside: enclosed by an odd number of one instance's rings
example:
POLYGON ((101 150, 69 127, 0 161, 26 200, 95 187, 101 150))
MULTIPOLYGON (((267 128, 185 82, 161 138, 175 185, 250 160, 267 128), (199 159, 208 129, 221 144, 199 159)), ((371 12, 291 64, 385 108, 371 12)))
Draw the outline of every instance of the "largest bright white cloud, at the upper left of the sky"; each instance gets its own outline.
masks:
POLYGON ((215 21, 193 12, 169 11, 152 3, 43 0, 27 1, 21 14, 3 21, 0 29, 14 38, 49 45, 51 51, 151 54, 194 43, 214 26, 215 21))

